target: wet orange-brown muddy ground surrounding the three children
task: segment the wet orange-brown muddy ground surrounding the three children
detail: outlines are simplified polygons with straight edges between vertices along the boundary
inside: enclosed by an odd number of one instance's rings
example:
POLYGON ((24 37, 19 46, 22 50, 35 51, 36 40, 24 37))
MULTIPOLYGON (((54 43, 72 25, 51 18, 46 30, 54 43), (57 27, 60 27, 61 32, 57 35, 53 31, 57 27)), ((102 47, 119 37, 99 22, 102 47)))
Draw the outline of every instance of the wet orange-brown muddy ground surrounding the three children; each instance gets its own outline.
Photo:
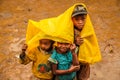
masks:
POLYGON ((102 61, 91 65, 90 80, 120 80, 120 0, 0 0, 0 80, 29 80, 31 63, 18 62, 29 19, 58 16, 74 3, 87 5, 102 61))

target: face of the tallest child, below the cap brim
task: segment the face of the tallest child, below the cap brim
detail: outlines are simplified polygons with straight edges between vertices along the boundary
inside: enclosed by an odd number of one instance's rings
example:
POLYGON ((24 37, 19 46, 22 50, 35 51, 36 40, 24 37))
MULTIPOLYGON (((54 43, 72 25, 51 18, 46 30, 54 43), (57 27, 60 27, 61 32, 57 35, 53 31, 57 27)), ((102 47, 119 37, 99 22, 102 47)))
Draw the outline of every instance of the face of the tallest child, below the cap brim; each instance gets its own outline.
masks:
POLYGON ((85 20, 86 15, 77 15, 72 17, 73 24, 78 30, 82 30, 85 24, 85 20))

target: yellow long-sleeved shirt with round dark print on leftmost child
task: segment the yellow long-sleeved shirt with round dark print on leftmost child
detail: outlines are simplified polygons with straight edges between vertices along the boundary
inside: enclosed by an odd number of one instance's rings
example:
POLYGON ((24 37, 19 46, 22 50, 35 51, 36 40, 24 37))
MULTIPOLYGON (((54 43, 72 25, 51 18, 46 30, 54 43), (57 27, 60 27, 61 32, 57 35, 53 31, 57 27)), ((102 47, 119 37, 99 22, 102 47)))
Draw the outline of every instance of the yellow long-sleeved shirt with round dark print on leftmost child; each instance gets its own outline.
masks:
POLYGON ((21 59, 20 62, 22 64, 27 64, 32 61, 32 72, 36 77, 52 80, 53 75, 51 66, 48 62, 48 58, 51 56, 51 53, 44 53, 42 50, 39 50, 38 47, 36 47, 28 51, 24 60, 21 59))

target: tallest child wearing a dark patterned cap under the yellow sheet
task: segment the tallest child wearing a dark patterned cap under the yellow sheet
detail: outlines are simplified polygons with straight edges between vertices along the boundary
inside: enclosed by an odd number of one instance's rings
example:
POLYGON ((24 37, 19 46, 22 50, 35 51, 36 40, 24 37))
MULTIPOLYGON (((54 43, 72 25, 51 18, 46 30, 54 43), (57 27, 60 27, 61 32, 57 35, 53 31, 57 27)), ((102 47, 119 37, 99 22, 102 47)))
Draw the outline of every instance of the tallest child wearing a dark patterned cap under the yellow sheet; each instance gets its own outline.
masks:
MULTIPOLYGON (((72 13, 72 21, 74 24, 74 43, 79 47, 83 43, 80 33, 85 25, 87 10, 83 5, 77 5, 72 13)), ((77 73, 78 80, 87 80, 90 75, 90 66, 88 63, 80 62, 80 70, 77 73)))

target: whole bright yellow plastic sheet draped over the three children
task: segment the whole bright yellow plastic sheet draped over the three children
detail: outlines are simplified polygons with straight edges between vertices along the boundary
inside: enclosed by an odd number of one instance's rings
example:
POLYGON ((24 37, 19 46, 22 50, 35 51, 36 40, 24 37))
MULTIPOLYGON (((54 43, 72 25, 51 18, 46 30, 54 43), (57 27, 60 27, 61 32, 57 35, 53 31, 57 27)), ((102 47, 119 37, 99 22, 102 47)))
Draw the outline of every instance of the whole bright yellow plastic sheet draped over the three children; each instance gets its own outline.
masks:
MULTIPOLYGON (((39 22, 30 20, 26 33, 26 43, 28 46, 37 46, 40 39, 73 43, 74 27, 71 15, 75 6, 79 4, 86 7, 84 4, 77 3, 58 17, 40 20, 39 22)), ((90 64, 100 61, 100 49, 88 14, 80 36, 84 39, 84 43, 79 47, 79 61, 90 64)))

